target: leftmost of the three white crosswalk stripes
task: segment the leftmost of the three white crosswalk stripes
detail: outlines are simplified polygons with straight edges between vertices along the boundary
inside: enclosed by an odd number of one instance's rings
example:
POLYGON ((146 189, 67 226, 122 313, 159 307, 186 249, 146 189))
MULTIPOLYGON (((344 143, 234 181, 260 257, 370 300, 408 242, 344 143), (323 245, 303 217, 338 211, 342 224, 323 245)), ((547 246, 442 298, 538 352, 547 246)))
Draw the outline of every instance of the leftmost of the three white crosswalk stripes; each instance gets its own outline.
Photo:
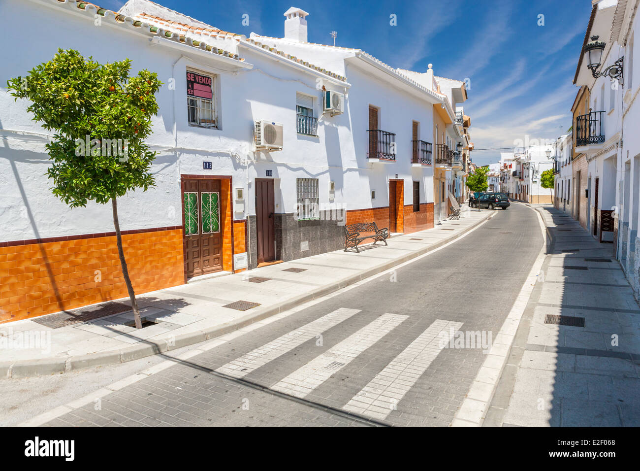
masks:
POLYGON ((257 368, 266 365, 269 361, 302 345, 307 342, 307 340, 314 338, 331 327, 337 326, 340 322, 343 322, 360 311, 360 309, 349 308, 335 310, 269 343, 265 343, 257 349, 253 349, 240 358, 234 359, 234 361, 230 361, 226 365, 222 365, 216 371, 237 378, 244 377, 257 368))

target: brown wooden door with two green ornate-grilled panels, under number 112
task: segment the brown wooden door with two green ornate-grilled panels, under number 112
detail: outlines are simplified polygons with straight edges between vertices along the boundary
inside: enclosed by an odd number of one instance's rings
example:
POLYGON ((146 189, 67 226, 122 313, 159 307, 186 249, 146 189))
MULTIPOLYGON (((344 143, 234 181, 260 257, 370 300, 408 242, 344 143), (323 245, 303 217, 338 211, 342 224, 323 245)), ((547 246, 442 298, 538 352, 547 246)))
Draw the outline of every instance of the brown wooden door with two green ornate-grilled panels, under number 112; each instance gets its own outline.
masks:
POLYGON ((182 246, 188 278, 222 270, 220 202, 220 180, 182 180, 182 246))

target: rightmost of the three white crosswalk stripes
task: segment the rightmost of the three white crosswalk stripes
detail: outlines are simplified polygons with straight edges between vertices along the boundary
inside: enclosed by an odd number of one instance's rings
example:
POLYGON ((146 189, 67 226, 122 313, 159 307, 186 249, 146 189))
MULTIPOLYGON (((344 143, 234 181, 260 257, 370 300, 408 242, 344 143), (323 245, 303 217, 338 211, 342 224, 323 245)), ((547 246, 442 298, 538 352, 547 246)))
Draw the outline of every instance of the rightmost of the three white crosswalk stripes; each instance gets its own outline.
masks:
POLYGON ((448 343, 461 326, 462 322, 437 319, 343 409, 379 420, 387 418, 442 351, 441 345, 448 343))

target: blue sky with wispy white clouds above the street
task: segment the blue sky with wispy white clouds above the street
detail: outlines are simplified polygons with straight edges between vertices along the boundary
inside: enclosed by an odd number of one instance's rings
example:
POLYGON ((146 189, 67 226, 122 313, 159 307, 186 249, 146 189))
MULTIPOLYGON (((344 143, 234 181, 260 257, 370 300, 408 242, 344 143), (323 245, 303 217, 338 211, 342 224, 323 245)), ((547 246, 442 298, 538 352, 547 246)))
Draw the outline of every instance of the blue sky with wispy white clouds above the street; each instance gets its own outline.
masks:
MULTIPOLYGON (((94 0, 117 10, 120 0, 94 0)), ((309 13, 308 40, 357 47, 392 67, 469 79, 470 135, 476 149, 513 147, 515 140, 556 138, 572 125, 572 84, 591 12, 588 0, 548 1, 248 1, 160 0, 216 28, 284 35, 283 13, 309 13), (244 13, 249 26, 243 26, 244 13), (390 25, 396 15, 397 26, 390 25), (544 15, 544 26, 538 26, 544 15)), ((506 151, 503 151, 506 152, 506 151)), ((500 151, 474 151, 479 165, 500 151)))

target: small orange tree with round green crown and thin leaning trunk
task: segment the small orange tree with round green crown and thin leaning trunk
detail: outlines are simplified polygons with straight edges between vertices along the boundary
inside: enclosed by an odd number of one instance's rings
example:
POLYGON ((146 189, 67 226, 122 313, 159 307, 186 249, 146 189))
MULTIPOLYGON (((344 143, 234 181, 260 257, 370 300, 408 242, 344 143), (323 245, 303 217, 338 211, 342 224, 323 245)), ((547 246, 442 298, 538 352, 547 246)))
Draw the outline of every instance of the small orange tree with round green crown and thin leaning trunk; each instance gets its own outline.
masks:
POLYGON ((142 327, 136 294, 122 249, 117 199, 136 188, 154 186, 156 153, 145 138, 157 114, 157 74, 129 76, 131 60, 100 64, 72 49, 37 65, 26 77, 7 81, 15 99, 29 100, 33 120, 54 132, 46 145, 52 193, 70 208, 88 201, 111 202, 122 275, 136 327, 142 327))

